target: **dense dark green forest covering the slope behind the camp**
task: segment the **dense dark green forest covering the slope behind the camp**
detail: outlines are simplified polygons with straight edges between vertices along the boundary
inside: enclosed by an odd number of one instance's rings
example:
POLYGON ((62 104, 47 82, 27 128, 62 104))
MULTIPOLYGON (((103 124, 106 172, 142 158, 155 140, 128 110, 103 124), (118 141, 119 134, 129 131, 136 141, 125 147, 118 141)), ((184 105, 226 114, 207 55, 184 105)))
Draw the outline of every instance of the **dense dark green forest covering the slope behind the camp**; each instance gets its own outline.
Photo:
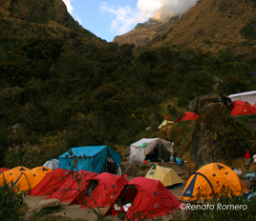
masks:
POLYGON ((96 44, 76 28, 49 35, 0 25, 0 167, 32 168, 72 147, 129 145, 196 96, 256 90, 253 54, 135 49, 96 44))

